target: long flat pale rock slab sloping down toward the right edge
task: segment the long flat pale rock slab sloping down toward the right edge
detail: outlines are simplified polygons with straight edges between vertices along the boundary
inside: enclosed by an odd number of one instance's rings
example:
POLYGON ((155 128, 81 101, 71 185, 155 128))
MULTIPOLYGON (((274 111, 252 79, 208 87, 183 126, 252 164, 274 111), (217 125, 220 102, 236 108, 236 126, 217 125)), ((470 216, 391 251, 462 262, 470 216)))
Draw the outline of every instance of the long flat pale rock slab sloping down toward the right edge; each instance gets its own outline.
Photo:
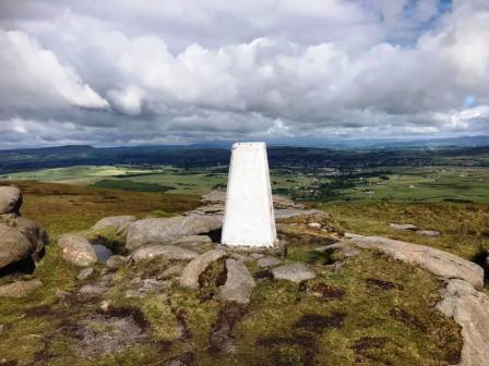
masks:
POLYGON ((416 264, 437 276, 462 279, 476 289, 484 286, 484 269, 451 253, 381 236, 349 234, 349 237, 359 247, 379 249, 395 259, 416 264))

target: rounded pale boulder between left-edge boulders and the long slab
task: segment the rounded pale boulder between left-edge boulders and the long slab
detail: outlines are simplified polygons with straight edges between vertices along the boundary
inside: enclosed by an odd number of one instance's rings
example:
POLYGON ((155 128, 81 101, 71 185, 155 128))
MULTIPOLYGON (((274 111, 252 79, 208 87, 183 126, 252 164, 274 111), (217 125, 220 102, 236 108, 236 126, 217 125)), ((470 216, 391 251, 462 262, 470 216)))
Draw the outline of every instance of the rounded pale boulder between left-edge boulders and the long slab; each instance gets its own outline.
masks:
POLYGON ((61 256, 63 259, 75 266, 85 267, 97 261, 95 249, 83 236, 76 234, 62 235, 58 245, 62 249, 61 256))

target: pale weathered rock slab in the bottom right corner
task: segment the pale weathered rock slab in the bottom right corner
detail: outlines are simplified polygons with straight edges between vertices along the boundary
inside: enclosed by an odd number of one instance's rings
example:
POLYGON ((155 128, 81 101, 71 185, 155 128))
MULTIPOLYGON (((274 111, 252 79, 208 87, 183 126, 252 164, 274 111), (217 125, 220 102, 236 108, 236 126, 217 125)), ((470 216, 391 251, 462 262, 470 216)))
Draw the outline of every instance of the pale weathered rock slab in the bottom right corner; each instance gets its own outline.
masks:
POLYGON ((469 283, 452 279, 437 308, 462 326, 464 345, 460 366, 487 365, 489 361, 489 297, 469 283))

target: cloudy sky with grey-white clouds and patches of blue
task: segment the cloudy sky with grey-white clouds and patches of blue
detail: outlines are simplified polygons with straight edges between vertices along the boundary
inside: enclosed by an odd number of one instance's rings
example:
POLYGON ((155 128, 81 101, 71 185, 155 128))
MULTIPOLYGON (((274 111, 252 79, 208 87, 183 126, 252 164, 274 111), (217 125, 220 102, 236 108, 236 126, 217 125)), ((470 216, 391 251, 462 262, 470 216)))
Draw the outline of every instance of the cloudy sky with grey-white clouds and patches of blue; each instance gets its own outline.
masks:
POLYGON ((488 134, 488 0, 0 0, 0 148, 488 134))

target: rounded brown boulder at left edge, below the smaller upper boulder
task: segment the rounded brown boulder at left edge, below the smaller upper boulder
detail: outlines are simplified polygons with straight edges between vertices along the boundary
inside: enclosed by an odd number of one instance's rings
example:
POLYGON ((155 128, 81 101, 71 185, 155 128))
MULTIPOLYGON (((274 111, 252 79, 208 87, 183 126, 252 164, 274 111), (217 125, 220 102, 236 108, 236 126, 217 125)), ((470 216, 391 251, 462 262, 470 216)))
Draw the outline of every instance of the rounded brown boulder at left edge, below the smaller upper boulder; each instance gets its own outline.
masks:
POLYGON ((33 245, 19 230, 0 223, 0 269, 27 258, 33 245))

